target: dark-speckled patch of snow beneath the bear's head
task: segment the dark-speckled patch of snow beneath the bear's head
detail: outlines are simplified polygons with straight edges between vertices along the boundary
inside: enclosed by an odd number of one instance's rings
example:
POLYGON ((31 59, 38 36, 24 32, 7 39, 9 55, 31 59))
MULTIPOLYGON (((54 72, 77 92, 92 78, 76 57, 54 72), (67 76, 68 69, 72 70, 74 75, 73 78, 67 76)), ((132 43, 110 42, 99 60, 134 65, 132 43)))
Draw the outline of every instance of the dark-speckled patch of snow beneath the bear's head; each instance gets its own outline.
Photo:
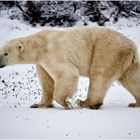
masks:
POLYGON ((41 90, 34 66, 18 66, 0 72, 1 107, 20 107, 40 100, 41 90), (10 98, 10 101, 9 101, 10 98), (11 105, 11 103, 16 105, 11 105))

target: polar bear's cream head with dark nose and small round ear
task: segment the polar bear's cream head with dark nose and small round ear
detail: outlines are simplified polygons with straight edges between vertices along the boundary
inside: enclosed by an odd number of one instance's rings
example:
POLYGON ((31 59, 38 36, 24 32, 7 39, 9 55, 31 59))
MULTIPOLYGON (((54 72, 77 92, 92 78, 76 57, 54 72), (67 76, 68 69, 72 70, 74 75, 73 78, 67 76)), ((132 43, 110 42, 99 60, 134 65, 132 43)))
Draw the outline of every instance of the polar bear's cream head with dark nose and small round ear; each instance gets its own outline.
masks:
POLYGON ((26 38, 9 41, 0 49, 0 68, 15 64, 36 63, 35 48, 35 44, 26 38))

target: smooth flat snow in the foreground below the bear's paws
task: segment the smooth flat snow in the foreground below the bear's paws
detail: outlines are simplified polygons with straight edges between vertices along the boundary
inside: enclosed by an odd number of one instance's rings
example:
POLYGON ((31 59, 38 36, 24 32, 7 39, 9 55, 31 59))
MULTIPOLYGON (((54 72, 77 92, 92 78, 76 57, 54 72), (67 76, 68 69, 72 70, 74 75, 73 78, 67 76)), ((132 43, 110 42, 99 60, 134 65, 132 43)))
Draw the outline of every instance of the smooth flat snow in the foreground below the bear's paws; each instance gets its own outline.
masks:
POLYGON ((1 109, 1 138, 139 138, 140 110, 1 109), (9 116, 10 115, 10 116, 9 116))

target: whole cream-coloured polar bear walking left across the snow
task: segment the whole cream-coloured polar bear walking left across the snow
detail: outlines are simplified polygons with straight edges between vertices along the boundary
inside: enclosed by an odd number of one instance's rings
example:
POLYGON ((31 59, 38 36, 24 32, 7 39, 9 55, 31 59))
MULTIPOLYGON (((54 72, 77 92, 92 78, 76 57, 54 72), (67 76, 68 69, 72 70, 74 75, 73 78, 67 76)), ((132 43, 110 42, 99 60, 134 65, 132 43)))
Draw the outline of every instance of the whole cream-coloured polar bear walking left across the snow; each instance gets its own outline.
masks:
POLYGON ((64 108, 76 91, 79 76, 90 79, 87 99, 81 107, 98 109, 108 88, 118 80, 140 106, 140 73, 133 41, 105 27, 47 28, 9 41, 0 50, 0 67, 35 64, 42 99, 31 107, 51 107, 56 100, 64 108))

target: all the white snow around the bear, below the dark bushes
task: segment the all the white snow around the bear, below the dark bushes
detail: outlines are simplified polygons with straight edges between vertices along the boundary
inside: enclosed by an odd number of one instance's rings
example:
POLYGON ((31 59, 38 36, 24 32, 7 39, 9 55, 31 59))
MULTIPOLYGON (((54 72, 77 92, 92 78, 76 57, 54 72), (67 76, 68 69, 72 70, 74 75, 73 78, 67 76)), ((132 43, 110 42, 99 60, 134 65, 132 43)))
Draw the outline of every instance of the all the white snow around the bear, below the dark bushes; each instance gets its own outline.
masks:
MULTIPOLYGON (((120 19, 116 25, 108 23, 106 26, 132 38, 140 50, 140 24, 136 24, 135 19, 120 19)), ((0 18, 0 46, 9 39, 40 29, 0 18)), ((100 110, 76 106, 73 101, 85 98, 88 82, 87 78, 80 78, 72 100, 73 110, 65 110, 56 103, 55 108, 31 109, 29 106, 41 98, 34 66, 0 69, 0 139, 140 138, 140 108, 128 108, 128 104, 135 100, 119 83, 112 84, 100 110)))

